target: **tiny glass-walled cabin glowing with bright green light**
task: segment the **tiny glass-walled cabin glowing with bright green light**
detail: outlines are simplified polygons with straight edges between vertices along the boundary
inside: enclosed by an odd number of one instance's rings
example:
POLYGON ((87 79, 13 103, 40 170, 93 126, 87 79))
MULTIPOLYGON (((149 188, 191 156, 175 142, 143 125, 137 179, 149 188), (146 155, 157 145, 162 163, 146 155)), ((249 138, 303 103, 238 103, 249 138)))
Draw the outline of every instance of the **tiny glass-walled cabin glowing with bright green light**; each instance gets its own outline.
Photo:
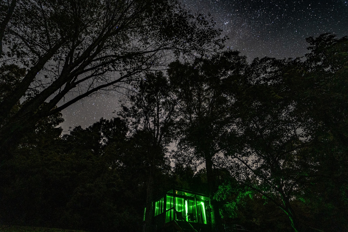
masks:
POLYGON ((151 231, 211 231, 209 197, 205 194, 174 188, 153 202, 152 208, 151 231))

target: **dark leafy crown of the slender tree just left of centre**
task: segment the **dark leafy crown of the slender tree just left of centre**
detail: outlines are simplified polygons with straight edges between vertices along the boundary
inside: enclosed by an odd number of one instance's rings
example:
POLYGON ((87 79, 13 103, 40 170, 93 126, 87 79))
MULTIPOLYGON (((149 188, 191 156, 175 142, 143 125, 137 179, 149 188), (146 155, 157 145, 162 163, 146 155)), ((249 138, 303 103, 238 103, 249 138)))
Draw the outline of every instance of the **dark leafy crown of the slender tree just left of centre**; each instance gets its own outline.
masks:
POLYGON ((174 120, 179 98, 172 93, 172 84, 162 72, 147 73, 135 83, 118 114, 127 119, 130 131, 149 131, 154 143, 167 147, 174 139, 174 120))

